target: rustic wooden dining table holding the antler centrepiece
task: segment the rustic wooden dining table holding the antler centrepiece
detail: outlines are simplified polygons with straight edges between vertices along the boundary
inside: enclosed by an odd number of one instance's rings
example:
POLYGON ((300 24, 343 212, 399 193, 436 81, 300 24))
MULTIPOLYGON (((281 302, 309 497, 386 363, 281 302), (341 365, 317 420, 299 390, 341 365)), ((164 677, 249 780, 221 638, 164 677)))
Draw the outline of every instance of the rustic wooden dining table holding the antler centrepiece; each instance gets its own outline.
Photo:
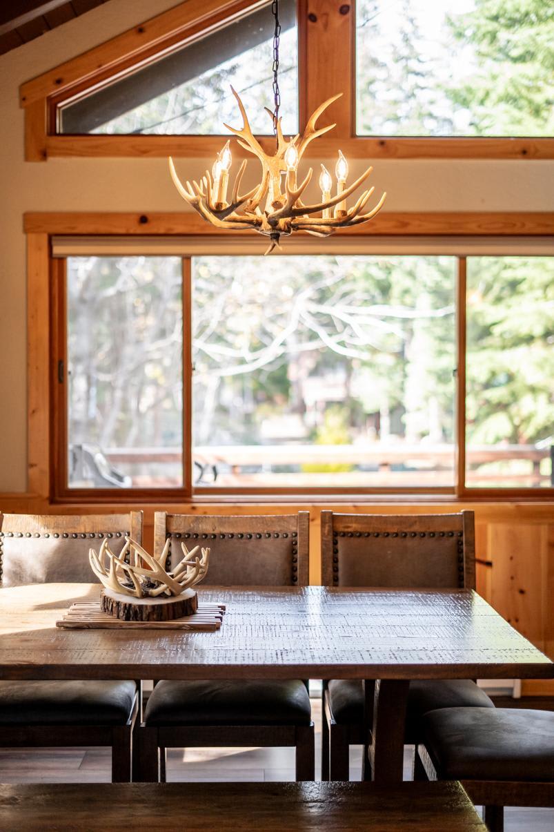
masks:
MULTIPOLYGON (((199 588, 218 631, 56 626, 98 584, 0 590, 0 679, 377 680, 373 779, 402 780, 412 679, 553 678, 554 665, 472 590, 199 588)), ((373 704, 373 703, 372 703, 373 704)))

